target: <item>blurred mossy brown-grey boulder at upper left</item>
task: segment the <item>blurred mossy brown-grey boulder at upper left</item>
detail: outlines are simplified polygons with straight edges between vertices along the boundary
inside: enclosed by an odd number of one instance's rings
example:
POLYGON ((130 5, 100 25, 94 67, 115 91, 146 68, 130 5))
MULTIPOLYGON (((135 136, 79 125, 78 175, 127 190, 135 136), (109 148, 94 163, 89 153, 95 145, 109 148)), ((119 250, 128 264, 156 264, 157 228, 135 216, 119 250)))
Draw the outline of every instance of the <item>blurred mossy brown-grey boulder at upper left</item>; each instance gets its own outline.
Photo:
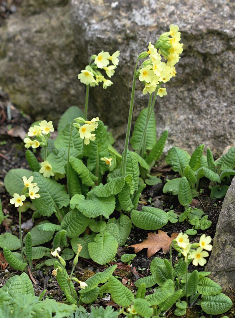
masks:
POLYGON ((34 119, 84 105, 68 0, 24 0, 0 28, 0 86, 34 119))

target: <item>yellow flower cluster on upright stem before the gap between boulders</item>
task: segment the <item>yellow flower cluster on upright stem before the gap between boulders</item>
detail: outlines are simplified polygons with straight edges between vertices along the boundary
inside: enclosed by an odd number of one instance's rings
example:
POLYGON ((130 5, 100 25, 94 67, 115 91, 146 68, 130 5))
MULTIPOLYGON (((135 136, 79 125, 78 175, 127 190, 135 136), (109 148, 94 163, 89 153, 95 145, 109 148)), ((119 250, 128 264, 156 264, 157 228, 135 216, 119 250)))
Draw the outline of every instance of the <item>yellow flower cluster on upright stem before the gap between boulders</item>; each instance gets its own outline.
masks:
POLYGON ((103 83, 103 89, 106 89, 108 86, 113 85, 113 82, 110 79, 105 79, 104 76, 100 73, 98 68, 103 69, 106 72, 106 75, 111 78, 115 69, 119 63, 120 51, 114 52, 112 55, 109 52, 100 52, 98 55, 93 55, 91 59, 94 60, 92 64, 89 64, 85 67, 85 70, 82 70, 78 74, 78 79, 81 83, 90 86, 97 86, 99 83, 103 83), (109 62, 112 62, 113 65, 109 65, 109 62))

